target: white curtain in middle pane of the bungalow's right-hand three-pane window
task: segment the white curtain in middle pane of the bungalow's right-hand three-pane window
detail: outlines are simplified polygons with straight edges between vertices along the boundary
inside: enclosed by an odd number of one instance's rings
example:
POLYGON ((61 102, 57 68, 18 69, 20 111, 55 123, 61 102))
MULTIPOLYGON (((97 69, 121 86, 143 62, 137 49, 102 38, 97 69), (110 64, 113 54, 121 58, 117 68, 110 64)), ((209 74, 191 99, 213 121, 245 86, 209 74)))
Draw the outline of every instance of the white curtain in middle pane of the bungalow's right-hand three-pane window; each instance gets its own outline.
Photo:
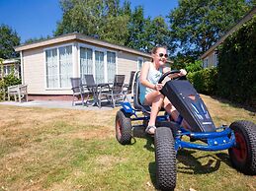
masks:
POLYGON ((104 52, 95 51, 95 81, 104 83, 104 52))

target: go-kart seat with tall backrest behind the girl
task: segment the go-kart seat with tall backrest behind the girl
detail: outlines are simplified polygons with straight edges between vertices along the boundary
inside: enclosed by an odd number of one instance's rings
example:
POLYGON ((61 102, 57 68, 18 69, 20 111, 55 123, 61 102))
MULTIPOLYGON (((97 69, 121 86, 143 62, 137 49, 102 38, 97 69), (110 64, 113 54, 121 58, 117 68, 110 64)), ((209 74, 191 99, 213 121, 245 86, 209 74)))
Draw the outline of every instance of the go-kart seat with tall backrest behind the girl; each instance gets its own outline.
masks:
MULTIPOLYGON (((133 106, 136 110, 141 110, 143 114, 150 115, 151 107, 149 105, 141 104, 139 100, 139 75, 140 71, 136 71, 134 74, 134 84, 133 84, 133 106)), ((164 111, 164 108, 161 108, 164 111)))

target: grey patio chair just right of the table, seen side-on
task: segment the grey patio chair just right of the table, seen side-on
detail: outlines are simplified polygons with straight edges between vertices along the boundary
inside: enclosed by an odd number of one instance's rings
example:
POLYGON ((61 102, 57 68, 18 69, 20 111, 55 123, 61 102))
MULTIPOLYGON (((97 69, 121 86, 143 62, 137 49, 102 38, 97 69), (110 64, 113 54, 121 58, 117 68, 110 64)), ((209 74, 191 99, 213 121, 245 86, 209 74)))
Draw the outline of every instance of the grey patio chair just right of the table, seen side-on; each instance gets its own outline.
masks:
POLYGON ((125 75, 116 75, 114 79, 113 86, 101 87, 98 94, 98 105, 101 107, 101 101, 107 98, 112 102, 113 107, 116 106, 116 101, 125 99, 124 93, 124 81, 125 75))

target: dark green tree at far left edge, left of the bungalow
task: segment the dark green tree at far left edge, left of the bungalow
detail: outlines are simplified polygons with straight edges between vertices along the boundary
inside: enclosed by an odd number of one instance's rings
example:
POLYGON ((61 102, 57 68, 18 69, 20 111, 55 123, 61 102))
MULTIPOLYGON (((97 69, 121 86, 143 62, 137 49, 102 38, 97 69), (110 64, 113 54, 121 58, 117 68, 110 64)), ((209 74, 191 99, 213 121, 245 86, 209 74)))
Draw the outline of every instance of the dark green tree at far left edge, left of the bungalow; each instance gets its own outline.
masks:
POLYGON ((15 52, 14 46, 20 45, 21 38, 17 32, 13 31, 7 25, 0 26, 0 58, 15 58, 19 56, 18 52, 15 52))

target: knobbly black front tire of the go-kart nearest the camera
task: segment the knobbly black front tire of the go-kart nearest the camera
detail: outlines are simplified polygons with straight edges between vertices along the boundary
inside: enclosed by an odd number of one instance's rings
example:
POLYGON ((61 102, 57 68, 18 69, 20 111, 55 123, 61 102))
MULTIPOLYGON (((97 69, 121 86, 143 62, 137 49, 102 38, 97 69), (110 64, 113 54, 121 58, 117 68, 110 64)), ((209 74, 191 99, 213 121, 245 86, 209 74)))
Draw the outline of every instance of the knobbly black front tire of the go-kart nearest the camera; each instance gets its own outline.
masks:
POLYGON ((160 190, 174 190, 176 186, 176 152, 172 131, 158 127, 155 131, 156 185, 160 190))

